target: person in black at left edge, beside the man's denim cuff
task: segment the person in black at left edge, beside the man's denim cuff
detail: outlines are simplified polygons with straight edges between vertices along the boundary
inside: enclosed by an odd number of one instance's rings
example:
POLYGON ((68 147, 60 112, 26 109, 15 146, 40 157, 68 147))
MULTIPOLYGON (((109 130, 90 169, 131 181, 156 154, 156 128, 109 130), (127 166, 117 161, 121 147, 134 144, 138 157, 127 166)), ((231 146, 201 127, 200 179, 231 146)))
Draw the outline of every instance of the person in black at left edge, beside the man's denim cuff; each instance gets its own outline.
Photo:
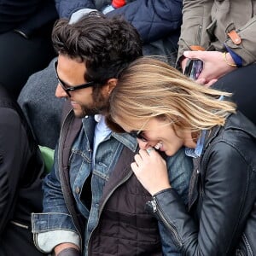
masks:
POLYGON ((40 256, 31 212, 42 212, 44 163, 19 105, 0 86, 0 255, 40 256))

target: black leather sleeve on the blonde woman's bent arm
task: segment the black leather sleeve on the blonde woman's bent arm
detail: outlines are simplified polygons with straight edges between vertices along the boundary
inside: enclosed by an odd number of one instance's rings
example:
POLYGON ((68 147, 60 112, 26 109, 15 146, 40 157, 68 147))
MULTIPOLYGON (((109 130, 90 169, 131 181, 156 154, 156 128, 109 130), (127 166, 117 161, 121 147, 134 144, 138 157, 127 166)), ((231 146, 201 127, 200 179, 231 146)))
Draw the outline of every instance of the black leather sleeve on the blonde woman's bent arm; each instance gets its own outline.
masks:
MULTIPOLYGON (((212 146, 212 145, 211 145, 212 146)), ((218 143, 205 158, 198 223, 173 189, 154 195, 157 217, 163 220, 183 255, 230 255, 244 229, 251 202, 247 196, 249 166, 240 152, 218 143), (245 209, 247 206, 247 209, 245 209), (242 218, 241 218, 242 216, 242 218)))

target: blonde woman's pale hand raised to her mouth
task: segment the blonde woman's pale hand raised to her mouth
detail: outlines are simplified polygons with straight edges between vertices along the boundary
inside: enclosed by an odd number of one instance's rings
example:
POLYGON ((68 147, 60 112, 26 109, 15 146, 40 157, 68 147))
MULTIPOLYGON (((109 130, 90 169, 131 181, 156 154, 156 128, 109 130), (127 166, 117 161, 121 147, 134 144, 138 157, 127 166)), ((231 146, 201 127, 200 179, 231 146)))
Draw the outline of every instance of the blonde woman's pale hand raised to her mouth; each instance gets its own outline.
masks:
POLYGON ((160 190, 171 188, 166 161, 154 148, 140 149, 134 160, 131 169, 149 194, 154 195, 160 190))

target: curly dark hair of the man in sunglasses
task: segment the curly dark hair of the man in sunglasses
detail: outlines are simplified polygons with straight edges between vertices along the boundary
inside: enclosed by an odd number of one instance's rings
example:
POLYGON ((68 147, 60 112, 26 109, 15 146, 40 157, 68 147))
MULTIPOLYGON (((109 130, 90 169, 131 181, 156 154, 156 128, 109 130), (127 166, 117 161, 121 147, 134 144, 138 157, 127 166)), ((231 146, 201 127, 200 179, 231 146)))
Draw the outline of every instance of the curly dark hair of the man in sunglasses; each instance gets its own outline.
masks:
POLYGON ((120 16, 85 15, 73 24, 60 19, 52 41, 59 54, 84 61, 84 78, 99 84, 117 78, 131 61, 143 55, 143 42, 136 28, 120 16))

